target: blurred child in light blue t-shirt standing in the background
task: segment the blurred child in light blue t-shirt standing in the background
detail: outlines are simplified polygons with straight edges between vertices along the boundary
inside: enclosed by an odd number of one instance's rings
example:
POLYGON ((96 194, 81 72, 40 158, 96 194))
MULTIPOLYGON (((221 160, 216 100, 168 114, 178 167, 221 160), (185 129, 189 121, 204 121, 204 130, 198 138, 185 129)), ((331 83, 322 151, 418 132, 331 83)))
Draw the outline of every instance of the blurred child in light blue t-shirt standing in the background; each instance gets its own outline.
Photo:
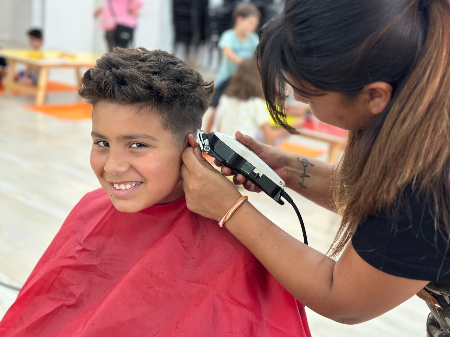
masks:
POLYGON ((255 31, 261 21, 259 9, 254 4, 240 4, 234 9, 232 18, 233 28, 223 32, 218 44, 222 51, 222 59, 216 78, 216 92, 210 104, 213 107, 217 106, 220 95, 238 65, 243 59, 255 54, 258 44, 258 35, 255 31))

